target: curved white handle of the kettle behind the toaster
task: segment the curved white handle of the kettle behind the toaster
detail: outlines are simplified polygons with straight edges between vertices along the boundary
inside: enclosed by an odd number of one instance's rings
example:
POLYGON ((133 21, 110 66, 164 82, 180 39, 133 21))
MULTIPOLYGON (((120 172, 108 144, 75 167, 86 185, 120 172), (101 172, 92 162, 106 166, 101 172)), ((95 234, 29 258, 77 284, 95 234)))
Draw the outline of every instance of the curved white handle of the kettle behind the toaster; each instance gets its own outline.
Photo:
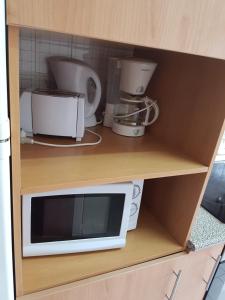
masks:
POLYGON ((87 109, 87 110, 85 110, 86 118, 90 117, 91 115, 93 115, 96 112, 99 102, 101 100, 101 95, 102 95, 101 82, 100 82, 100 79, 99 79, 97 73, 94 70, 91 70, 91 74, 90 74, 89 78, 91 78, 94 81, 94 83, 96 85, 96 91, 95 91, 95 97, 94 97, 92 105, 86 106, 86 109, 87 109))

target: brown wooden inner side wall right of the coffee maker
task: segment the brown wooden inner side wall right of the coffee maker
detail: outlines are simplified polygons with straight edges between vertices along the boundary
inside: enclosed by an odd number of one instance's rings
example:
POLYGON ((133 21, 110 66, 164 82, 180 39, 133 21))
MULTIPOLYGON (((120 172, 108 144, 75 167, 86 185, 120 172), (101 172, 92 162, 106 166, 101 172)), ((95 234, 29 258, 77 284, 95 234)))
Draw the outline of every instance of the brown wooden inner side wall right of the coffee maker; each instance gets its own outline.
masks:
POLYGON ((158 68, 148 94, 160 116, 150 133, 210 165, 225 117, 225 62, 160 50, 137 50, 158 68))

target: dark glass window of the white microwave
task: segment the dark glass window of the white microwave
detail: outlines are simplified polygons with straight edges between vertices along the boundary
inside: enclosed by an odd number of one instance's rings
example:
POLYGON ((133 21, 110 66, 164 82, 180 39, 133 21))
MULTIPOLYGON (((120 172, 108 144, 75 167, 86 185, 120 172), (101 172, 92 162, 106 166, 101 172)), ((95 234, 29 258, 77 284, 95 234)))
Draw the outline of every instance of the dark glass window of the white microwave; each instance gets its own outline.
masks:
POLYGON ((125 194, 32 197, 31 243, 118 236, 125 194))

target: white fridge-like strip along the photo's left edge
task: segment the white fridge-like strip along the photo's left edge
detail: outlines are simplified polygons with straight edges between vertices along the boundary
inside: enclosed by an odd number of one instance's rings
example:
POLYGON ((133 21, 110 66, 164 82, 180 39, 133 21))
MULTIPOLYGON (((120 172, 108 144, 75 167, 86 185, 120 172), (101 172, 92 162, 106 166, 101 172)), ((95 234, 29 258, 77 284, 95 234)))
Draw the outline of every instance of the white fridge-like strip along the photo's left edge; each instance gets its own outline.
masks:
POLYGON ((0 1, 0 299, 14 300, 5 2, 0 1))

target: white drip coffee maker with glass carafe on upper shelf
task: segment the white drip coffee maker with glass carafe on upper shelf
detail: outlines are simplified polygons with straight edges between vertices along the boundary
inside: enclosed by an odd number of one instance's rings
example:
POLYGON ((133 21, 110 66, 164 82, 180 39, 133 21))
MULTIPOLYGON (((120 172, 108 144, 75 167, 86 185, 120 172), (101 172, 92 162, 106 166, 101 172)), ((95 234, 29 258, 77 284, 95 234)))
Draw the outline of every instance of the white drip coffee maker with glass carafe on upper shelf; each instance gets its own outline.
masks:
POLYGON ((138 58, 109 61, 111 82, 108 82, 104 125, 124 136, 142 136, 145 127, 159 115, 156 101, 144 96, 157 64, 138 58), (113 91, 110 85, 114 86, 113 91))

